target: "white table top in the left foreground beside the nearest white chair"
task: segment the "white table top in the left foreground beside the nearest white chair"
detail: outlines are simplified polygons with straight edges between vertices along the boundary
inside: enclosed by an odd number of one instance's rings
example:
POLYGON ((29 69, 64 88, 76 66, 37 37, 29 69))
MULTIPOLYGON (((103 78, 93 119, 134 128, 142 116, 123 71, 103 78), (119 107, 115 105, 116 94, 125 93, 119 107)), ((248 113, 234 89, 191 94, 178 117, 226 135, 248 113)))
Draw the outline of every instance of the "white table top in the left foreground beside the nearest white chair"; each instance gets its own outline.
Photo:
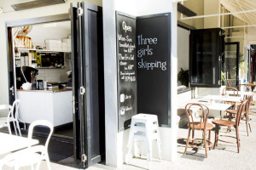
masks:
POLYGON ((38 139, 30 140, 9 133, 0 133, 0 139, 0 155, 26 148, 30 143, 31 145, 39 143, 38 139))

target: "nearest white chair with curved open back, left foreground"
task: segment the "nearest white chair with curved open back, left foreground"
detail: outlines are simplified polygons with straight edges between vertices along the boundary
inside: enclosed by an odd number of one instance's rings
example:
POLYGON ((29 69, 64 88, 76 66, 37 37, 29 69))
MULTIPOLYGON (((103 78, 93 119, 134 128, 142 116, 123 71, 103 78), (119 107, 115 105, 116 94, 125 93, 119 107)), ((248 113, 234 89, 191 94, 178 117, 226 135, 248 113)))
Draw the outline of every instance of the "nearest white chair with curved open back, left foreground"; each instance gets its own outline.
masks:
POLYGON ((49 165, 48 144, 49 139, 53 133, 53 125, 51 122, 45 120, 32 122, 28 129, 28 139, 32 139, 33 128, 36 126, 49 127, 49 135, 45 144, 35 146, 31 146, 29 144, 26 149, 18 150, 15 153, 11 153, 8 156, 3 157, 3 159, 0 161, 0 170, 2 170, 3 165, 7 165, 8 167, 15 167, 15 170, 26 166, 31 166, 33 169, 34 164, 37 164, 36 170, 38 170, 40 163, 43 160, 46 161, 48 169, 51 169, 49 165))

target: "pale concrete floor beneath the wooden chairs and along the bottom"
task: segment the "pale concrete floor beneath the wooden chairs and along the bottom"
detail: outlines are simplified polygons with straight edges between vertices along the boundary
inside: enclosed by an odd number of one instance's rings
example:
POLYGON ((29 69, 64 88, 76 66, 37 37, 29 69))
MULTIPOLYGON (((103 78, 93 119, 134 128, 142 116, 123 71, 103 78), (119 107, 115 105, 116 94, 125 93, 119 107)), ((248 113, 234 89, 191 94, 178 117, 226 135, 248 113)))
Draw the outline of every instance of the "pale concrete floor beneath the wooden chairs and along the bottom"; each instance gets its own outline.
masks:
MULTIPOLYGON (((251 111, 256 111, 256 106, 251 107, 251 111)), ((177 156, 176 162, 170 161, 148 161, 140 158, 132 158, 130 165, 123 165, 122 167, 108 167, 101 164, 96 164, 93 167, 88 168, 88 170, 253 170, 256 169, 256 113, 250 115, 252 133, 247 136, 246 125, 244 121, 241 121, 240 125, 240 138, 241 138, 241 151, 238 154, 236 144, 227 144, 218 142, 218 147, 215 150, 208 150, 208 158, 205 156, 205 150, 199 149, 195 150, 188 148, 187 155, 183 155, 185 143, 183 139, 187 138, 188 129, 178 128, 177 132, 177 156)), ((223 129, 224 134, 226 131, 223 129)), ((235 135, 234 130, 230 132, 235 135)), ((201 137, 201 133, 195 133, 198 138, 201 137)), ((235 141, 235 139, 229 139, 235 141)), ((212 131, 212 143, 214 142, 214 131, 212 131)), ((1 159, 1 158, 0 158, 1 159)), ((3 170, 9 170, 14 168, 4 167, 3 170)), ((20 170, 30 169, 30 167, 22 167, 20 170)), ((42 162, 40 170, 48 169, 45 161, 42 162)), ((51 163, 52 170, 72 170, 77 169, 75 167, 67 167, 56 163, 51 163)))

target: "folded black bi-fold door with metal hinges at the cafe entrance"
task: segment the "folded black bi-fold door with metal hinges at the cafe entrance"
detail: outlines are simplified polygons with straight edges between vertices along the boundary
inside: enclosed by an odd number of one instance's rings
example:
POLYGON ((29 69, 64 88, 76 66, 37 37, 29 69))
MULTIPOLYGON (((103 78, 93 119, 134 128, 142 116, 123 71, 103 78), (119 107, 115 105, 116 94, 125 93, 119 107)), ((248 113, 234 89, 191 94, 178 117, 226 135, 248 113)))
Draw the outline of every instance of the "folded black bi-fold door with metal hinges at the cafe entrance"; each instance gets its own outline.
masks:
POLYGON ((73 47, 77 50, 73 55, 73 67, 77 68, 73 90, 80 127, 77 156, 80 167, 87 168, 105 154, 102 8, 86 2, 73 4, 72 8, 76 15, 72 18, 73 37, 77 37, 73 39, 77 41, 73 47))

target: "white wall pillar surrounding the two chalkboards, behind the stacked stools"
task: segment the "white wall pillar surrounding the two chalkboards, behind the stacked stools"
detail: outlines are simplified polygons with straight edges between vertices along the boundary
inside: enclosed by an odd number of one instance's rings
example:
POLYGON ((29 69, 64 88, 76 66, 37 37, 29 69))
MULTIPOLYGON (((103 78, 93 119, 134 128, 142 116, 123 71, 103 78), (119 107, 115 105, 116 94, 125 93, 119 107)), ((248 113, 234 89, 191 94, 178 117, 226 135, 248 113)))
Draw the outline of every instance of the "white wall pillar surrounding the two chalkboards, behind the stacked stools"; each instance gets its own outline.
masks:
MULTIPOLYGON (((103 0, 103 39, 105 60, 105 100, 109 104, 105 107, 106 112, 106 164, 119 167, 125 161, 127 152, 126 144, 129 130, 118 133, 118 102, 117 102, 117 66, 116 66, 116 32, 115 32, 115 10, 135 16, 147 14, 160 14, 172 12, 172 128, 160 128, 162 142, 162 156, 166 160, 175 161, 177 158, 176 140, 176 97, 177 97, 177 8, 172 7, 169 0, 103 0)), ((171 57, 171 56, 170 56, 171 57)))

